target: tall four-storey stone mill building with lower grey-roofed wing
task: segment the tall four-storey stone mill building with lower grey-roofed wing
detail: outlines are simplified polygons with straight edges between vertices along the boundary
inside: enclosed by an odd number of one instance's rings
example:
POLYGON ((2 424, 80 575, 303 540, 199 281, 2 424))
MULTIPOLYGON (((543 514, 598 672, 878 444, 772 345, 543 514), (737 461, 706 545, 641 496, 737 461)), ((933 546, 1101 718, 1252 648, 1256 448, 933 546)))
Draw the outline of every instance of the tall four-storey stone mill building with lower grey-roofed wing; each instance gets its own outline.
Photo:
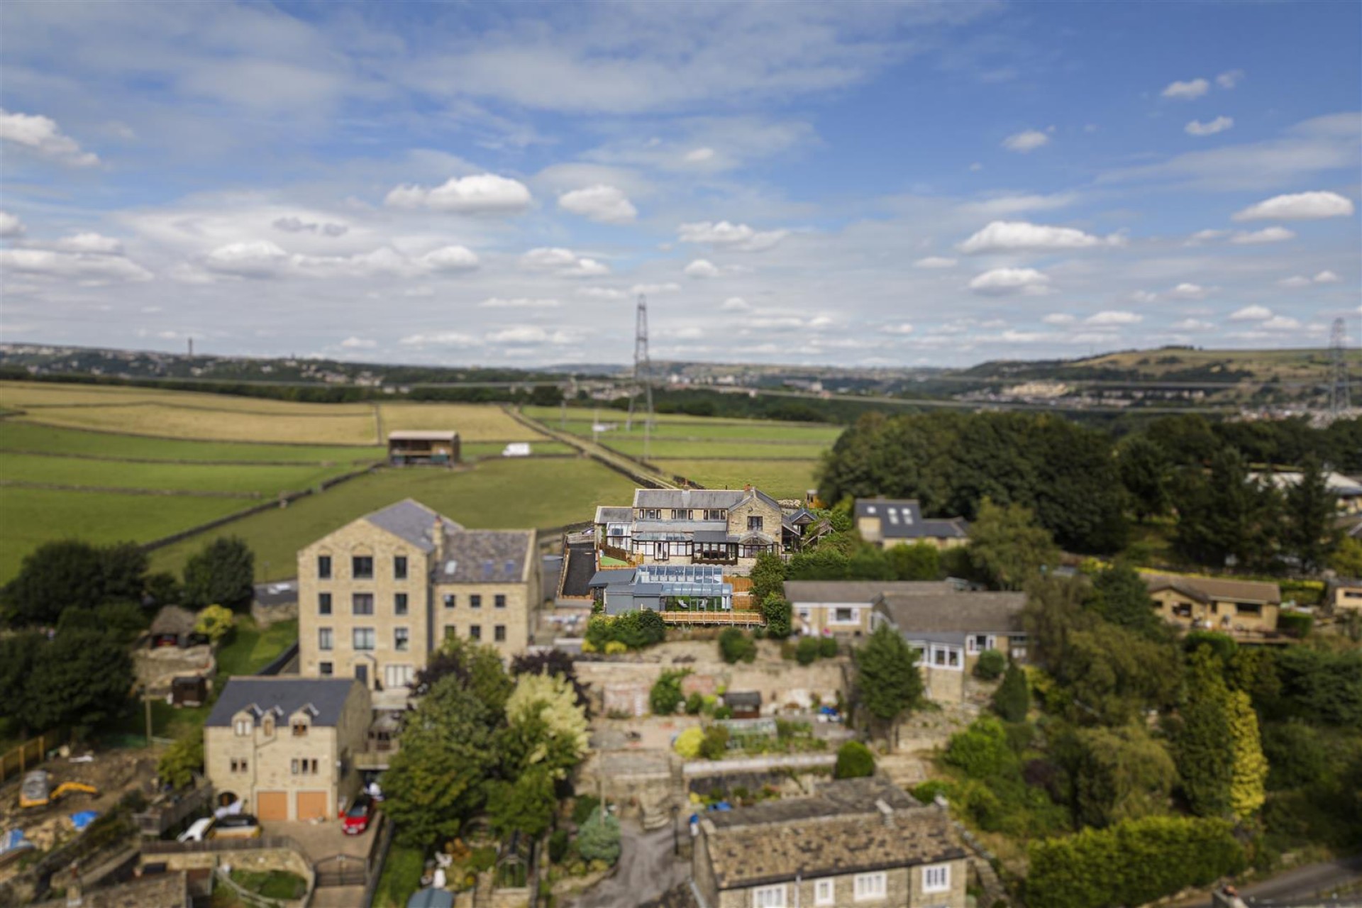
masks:
POLYGON ((464 530, 399 501, 298 551, 298 674, 402 698, 445 637, 524 652, 538 603, 533 530, 464 530))

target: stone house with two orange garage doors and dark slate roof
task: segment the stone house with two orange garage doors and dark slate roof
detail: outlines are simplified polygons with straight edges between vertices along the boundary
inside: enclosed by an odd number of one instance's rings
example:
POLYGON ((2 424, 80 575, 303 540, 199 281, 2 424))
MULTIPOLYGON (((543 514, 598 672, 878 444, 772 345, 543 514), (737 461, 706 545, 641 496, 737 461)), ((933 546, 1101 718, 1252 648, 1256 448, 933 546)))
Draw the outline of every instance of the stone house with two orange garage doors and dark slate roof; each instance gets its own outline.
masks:
POLYGON ((219 802, 260 820, 327 820, 354 796, 372 704, 354 678, 230 678, 203 727, 219 802))

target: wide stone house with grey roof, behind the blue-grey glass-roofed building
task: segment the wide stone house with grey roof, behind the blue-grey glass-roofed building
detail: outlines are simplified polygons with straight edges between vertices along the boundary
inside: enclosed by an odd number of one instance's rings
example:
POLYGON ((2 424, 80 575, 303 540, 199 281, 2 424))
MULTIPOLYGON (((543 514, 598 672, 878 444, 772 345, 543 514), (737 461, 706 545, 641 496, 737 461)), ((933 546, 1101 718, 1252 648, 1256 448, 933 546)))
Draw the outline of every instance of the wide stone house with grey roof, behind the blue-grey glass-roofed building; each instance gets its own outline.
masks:
POLYGON ((629 508, 601 506, 597 546, 635 564, 733 565, 746 573, 763 551, 787 551, 799 535, 771 496, 742 489, 636 489, 629 508))

